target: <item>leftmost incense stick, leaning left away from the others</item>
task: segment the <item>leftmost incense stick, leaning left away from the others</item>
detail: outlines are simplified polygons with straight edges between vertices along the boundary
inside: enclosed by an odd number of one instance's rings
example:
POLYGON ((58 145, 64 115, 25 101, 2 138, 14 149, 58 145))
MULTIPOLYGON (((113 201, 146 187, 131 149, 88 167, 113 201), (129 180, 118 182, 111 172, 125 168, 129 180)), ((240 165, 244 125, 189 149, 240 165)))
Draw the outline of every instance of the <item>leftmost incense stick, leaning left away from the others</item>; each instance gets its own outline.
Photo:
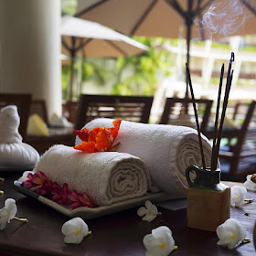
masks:
MULTIPOLYGON (((187 66, 187 63, 186 63, 186 66, 187 66)), ((189 88, 190 88, 190 94, 191 94, 192 103, 193 103, 193 108, 194 108, 195 117, 196 117, 197 134, 198 134, 198 141, 199 141, 200 153, 201 153, 201 157, 202 157, 202 165, 203 165, 203 169, 206 169, 205 155, 204 155, 204 150, 203 150, 203 144, 202 144, 200 126, 199 126, 199 122, 198 122, 196 100, 195 100, 195 96, 194 96, 192 81, 191 81, 191 78, 190 78, 190 71, 189 71, 189 68, 188 68, 188 67, 187 67, 187 80, 188 80, 188 85, 189 85, 189 88)))

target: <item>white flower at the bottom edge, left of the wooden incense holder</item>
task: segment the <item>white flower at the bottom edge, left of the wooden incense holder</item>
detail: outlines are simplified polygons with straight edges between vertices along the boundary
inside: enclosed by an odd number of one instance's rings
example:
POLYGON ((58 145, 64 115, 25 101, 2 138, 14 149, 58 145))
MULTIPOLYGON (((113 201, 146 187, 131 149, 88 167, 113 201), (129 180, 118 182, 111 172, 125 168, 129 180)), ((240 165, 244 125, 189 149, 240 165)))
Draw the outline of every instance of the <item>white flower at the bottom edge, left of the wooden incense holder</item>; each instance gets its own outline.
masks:
POLYGON ((152 229, 151 234, 144 236, 146 256, 167 256, 176 249, 172 231, 165 226, 152 229))

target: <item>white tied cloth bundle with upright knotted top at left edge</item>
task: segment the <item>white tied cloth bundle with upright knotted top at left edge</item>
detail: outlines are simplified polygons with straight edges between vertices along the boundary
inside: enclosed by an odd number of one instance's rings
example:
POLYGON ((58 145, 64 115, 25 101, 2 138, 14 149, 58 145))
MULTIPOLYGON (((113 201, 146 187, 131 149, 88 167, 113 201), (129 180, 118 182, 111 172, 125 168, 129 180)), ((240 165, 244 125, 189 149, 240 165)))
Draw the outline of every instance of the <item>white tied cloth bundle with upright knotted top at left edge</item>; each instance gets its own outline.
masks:
POLYGON ((4 170, 32 169, 39 160, 37 150, 22 142, 18 133, 20 118, 15 105, 0 112, 0 167, 4 170))

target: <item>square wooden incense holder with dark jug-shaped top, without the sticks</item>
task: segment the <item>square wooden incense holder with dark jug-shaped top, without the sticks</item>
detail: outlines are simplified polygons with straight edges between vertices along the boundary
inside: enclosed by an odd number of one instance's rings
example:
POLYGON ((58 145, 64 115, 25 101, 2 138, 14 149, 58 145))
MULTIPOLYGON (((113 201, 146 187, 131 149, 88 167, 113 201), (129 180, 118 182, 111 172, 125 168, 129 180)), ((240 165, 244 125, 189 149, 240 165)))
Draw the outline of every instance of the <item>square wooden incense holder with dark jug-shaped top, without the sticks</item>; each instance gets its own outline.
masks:
POLYGON ((230 187, 219 182, 219 174, 219 169, 187 167, 187 227, 216 231, 229 219, 230 187), (190 178, 192 173, 196 173, 193 181, 190 178))

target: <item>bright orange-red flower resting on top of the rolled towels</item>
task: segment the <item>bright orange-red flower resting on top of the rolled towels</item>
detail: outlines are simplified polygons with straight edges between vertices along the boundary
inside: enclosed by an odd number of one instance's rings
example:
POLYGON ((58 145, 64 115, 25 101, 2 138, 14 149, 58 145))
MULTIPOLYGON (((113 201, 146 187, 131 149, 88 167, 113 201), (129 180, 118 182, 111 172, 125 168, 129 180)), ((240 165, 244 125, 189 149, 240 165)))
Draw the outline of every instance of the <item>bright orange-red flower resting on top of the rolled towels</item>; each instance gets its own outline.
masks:
POLYGON ((119 144, 113 145, 118 135, 121 122, 121 119, 117 119, 112 122, 112 128, 94 127, 90 132, 86 128, 83 128, 82 130, 74 130, 74 133, 76 133, 82 141, 81 144, 75 145, 74 149, 89 153, 114 151, 119 144))

